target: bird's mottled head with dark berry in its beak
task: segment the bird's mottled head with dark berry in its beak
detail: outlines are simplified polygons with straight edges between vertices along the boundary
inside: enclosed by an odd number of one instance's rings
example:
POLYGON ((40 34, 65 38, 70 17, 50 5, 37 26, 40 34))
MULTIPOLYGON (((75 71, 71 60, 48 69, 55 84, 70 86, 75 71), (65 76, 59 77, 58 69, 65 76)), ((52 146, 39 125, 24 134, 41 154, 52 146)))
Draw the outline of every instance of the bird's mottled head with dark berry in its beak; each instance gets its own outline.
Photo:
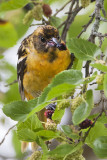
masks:
POLYGON ((61 41, 58 30, 50 25, 38 27, 33 34, 35 49, 39 52, 53 52, 56 49, 66 50, 66 45, 61 41))

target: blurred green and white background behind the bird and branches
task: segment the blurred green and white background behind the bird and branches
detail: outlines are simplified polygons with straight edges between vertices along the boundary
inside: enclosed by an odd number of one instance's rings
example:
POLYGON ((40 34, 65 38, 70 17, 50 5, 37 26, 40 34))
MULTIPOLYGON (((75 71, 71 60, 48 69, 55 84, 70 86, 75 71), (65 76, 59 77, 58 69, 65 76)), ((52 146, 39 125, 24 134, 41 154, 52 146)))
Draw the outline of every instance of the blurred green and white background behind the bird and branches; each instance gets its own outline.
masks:
MULTIPOLYGON (((15 0, 10 1, 14 2, 15 0)), ((22 40, 31 34, 38 24, 42 23, 42 20, 37 18, 34 19, 34 17, 30 17, 28 15, 28 12, 33 7, 31 3, 22 7, 24 4, 22 5, 22 2, 19 0, 19 4, 16 4, 16 7, 11 6, 9 8, 8 5, 4 5, 3 7, 5 2, 9 1, 0 0, 0 160, 21 160, 26 159, 26 157, 31 153, 31 149, 29 147, 26 153, 21 153, 21 144, 16 137, 15 128, 9 132, 2 143, 2 139, 8 129, 17 123, 3 114, 2 107, 12 101, 20 100, 18 84, 14 83, 9 85, 13 81, 17 80, 17 51, 22 40), (31 24, 35 25, 30 26, 31 24)), ((60 3, 59 0, 45 0, 44 3, 49 4, 52 9, 52 15, 50 17, 51 25, 58 27, 67 17, 67 14, 65 13, 68 12, 69 4, 63 11, 59 12, 57 16, 54 16, 56 10, 61 8, 61 6, 65 4, 65 1, 62 0, 60 3)), ((104 1, 104 6, 107 12, 107 0, 104 1)), ((76 37, 81 32, 82 26, 89 21, 89 15, 94 11, 94 8, 95 2, 90 3, 88 7, 79 12, 68 31, 67 39, 76 37)), ((36 14, 39 14, 39 12, 40 11, 38 10, 36 14)), ((47 18, 44 15, 43 18, 46 20, 49 19, 49 17, 47 18)), ((82 35, 82 38, 87 39, 89 37, 91 27, 92 24, 89 26, 87 32, 82 35)), ((59 29, 60 34, 61 31, 62 28, 59 29)), ((101 22, 100 32, 106 33, 106 31, 107 23, 101 22)), ((98 43, 98 40, 96 40, 96 43, 98 43)), ((107 39, 104 39, 102 49, 105 54, 107 54, 106 44, 107 39)), ((96 94, 99 93, 95 93, 95 101, 97 101, 98 98, 96 94)), ((69 123, 70 116, 71 114, 68 109, 66 110, 62 123, 69 123)), ((85 148, 86 150, 84 155, 87 157, 86 160, 98 160, 91 149, 87 147, 85 148)))

